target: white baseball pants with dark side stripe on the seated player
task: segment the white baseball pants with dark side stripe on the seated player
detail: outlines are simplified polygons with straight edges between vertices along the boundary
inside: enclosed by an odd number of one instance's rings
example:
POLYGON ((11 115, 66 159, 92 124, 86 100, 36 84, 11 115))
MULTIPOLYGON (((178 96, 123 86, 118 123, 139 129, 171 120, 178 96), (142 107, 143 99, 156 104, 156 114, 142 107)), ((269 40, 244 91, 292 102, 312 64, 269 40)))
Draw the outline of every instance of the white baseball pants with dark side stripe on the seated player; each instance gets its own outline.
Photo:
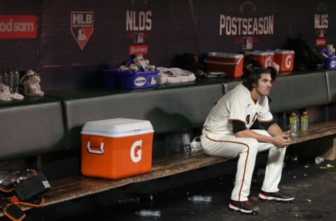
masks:
MULTIPOLYGON (((253 129, 253 131, 270 136, 267 131, 253 129)), ((205 135, 201 136, 202 150, 207 155, 225 158, 239 157, 235 177, 235 187, 231 199, 246 201, 251 189, 251 180, 258 152, 269 150, 265 178, 261 190, 265 192, 279 191, 283 158, 286 148, 277 148, 271 143, 260 143, 255 138, 237 138, 234 135, 205 135)))

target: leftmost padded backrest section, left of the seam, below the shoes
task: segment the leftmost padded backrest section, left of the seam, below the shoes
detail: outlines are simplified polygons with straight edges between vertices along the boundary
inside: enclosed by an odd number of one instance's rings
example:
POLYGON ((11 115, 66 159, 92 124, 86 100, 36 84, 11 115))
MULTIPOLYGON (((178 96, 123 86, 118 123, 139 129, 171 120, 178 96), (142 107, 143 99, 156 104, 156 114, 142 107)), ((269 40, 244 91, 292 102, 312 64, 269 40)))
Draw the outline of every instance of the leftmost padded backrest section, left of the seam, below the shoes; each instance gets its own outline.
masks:
POLYGON ((0 160, 18 159, 65 147, 61 102, 47 97, 0 101, 0 160))

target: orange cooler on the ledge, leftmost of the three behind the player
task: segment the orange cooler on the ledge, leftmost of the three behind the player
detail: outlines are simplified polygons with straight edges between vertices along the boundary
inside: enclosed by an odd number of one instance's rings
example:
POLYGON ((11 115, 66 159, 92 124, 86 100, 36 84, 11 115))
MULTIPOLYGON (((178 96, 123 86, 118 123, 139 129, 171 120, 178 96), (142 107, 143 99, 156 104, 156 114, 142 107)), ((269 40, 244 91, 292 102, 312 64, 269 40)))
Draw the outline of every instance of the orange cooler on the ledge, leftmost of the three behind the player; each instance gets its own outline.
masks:
POLYGON ((243 75, 244 55, 225 52, 209 52, 207 71, 224 72, 225 78, 241 78, 243 75))

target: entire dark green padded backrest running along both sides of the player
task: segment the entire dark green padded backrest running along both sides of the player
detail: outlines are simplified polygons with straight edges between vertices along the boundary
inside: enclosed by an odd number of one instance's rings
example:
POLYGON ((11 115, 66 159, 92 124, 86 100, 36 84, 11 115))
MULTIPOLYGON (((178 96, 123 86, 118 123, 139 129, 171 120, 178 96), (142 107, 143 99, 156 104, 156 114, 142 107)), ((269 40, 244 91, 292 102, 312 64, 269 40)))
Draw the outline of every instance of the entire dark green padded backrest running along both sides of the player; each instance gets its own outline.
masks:
MULTIPOLYGON (((0 160, 79 148, 80 130, 92 120, 150 120, 157 134, 202 127, 214 103, 238 83, 240 79, 202 79, 146 90, 62 90, 0 101, 0 160)), ((280 76, 269 94, 270 107, 283 113, 335 104, 335 85, 336 71, 280 76)))

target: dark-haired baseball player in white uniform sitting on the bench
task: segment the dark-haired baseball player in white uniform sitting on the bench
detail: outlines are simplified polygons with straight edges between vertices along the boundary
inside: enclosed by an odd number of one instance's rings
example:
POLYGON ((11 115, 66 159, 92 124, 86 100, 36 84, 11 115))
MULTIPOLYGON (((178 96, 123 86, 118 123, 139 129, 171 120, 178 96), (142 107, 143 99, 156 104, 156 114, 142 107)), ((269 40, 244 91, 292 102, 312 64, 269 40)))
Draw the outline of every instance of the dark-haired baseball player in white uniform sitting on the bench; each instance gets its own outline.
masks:
POLYGON ((207 155, 238 157, 235 187, 229 208, 242 213, 258 213, 248 201, 257 153, 269 150, 265 179, 259 194, 262 200, 293 201, 279 192, 283 158, 290 144, 290 131, 274 123, 269 110, 271 71, 255 68, 244 73, 243 83, 219 99, 204 122, 201 145, 207 155), (259 124, 260 129, 253 129, 259 124))

